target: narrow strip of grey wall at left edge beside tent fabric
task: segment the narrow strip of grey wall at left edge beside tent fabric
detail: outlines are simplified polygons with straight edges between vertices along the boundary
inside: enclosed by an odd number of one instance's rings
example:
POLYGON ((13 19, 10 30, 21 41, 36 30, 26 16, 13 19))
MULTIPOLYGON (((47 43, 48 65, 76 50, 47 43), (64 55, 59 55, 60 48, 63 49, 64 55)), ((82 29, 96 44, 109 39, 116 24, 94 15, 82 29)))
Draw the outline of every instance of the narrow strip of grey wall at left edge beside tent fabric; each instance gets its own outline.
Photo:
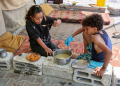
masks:
POLYGON ((0 6, 0 36, 6 32, 2 10, 0 6))

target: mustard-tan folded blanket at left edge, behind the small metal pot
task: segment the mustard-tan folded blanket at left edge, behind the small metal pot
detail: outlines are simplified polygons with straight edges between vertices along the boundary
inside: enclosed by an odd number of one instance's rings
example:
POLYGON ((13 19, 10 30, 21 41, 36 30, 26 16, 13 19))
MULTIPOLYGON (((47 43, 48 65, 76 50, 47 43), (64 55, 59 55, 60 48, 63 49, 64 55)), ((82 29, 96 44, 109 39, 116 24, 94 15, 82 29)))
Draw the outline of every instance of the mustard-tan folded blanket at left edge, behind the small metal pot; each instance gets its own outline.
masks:
POLYGON ((22 36, 6 32, 0 37, 0 49, 5 48, 7 52, 15 53, 24 40, 25 38, 22 36))

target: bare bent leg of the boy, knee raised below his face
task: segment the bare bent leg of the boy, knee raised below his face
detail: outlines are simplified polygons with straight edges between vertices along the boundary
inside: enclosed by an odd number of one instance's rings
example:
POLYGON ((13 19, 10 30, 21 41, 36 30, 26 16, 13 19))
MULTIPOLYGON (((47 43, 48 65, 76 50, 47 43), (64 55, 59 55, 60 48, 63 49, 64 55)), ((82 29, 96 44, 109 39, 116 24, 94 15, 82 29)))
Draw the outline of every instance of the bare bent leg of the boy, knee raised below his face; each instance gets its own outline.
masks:
POLYGON ((86 47, 91 44, 91 35, 86 34, 86 32, 83 32, 83 41, 84 41, 84 53, 88 53, 88 50, 86 47))

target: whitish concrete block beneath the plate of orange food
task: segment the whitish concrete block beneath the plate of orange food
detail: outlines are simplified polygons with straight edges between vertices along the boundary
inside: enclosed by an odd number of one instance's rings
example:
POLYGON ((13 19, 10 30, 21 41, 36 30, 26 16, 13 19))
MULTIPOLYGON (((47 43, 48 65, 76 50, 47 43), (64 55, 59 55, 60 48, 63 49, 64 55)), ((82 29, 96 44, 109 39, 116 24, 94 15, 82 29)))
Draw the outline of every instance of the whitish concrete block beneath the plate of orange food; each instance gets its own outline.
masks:
POLYGON ((42 75, 42 63, 46 57, 41 56, 41 58, 35 62, 28 61, 26 57, 27 53, 22 53, 21 56, 15 56, 13 58, 13 67, 16 70, 32 71, 35 75, 42 75))

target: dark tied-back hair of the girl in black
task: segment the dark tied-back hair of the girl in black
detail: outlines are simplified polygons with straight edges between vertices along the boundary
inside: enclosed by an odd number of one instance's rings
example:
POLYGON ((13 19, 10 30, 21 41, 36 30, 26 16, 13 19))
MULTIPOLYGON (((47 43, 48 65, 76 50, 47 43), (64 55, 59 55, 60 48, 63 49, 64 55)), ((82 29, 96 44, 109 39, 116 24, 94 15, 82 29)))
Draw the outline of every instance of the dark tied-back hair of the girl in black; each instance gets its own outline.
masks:
POLYGON ((36 13, 40 13, 40 12, 43 12, 42 8, 39 5, 33 5, 28 10, 25 19, 30 19, 30 16, 34 17, 36 13))

